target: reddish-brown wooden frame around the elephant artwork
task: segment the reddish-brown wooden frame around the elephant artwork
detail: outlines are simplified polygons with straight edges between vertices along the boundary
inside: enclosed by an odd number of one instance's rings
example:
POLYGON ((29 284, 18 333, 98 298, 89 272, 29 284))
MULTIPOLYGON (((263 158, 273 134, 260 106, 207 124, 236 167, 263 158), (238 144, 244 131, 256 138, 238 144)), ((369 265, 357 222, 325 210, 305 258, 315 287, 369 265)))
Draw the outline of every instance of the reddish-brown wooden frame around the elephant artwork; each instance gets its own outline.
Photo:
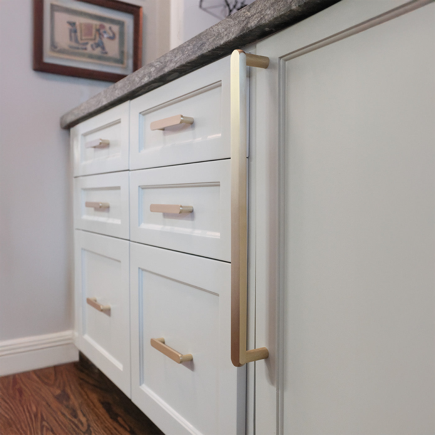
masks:
MULTIPOLYGON (((133 71, 142 67, 142 7, 119 0, 80 0, 133 16, 133 71)), ((44 62, 43 58, 43 0, 33 0, 33 70, 72 77, 116 82, 127 74, 117 74, 87 68, 44 62)))

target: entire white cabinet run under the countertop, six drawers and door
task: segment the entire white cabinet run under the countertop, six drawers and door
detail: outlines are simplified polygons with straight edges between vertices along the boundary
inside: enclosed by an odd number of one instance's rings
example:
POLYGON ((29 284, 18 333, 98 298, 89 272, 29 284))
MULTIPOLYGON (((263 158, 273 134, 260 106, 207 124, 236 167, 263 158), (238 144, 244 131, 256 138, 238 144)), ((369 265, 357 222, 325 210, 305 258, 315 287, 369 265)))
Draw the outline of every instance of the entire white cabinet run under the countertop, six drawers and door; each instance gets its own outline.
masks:
POLYGON ((433 16, 343 0, 245 47, 270 63, 238 77, 237 268, 269 356, 238 368, 230 57, 72 129, 77 345, 168 435, 433 432, 433 16))

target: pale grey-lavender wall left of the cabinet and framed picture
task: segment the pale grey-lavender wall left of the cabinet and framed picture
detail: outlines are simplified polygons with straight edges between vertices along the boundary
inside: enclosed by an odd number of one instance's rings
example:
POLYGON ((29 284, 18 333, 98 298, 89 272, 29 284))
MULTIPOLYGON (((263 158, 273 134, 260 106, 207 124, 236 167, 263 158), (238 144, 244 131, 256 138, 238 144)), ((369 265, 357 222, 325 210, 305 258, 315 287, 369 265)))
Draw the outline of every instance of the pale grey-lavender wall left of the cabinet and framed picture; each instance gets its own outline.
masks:
POLYGON ((0 1, 0 340, 73 327, 69 134, 108 82, 32 70, 30 0, 0 1))

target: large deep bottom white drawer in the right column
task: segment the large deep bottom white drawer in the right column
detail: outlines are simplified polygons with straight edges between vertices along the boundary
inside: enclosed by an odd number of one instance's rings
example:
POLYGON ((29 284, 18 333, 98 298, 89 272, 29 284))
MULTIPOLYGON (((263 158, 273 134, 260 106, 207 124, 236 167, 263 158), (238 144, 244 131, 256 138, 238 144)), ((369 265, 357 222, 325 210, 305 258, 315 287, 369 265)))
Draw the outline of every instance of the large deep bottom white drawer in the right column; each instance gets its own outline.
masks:
POLYGON ((231 265, 137 243, 130 253, 133 402, 167 435, 244 433, 246 373, 230 357, 231 265), (177 364, 151 338, 192 361, 177 364))

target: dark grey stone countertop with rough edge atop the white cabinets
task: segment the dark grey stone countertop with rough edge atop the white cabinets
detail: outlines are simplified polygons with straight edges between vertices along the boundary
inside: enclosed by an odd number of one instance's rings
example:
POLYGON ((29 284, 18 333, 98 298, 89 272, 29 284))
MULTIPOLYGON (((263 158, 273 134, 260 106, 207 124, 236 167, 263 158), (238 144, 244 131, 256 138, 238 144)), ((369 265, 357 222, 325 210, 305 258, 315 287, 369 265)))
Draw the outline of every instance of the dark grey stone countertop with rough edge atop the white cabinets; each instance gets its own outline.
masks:
POLYGON ((70 128, 301 21, 339 0, 256 0, 60 118, 70 128))

